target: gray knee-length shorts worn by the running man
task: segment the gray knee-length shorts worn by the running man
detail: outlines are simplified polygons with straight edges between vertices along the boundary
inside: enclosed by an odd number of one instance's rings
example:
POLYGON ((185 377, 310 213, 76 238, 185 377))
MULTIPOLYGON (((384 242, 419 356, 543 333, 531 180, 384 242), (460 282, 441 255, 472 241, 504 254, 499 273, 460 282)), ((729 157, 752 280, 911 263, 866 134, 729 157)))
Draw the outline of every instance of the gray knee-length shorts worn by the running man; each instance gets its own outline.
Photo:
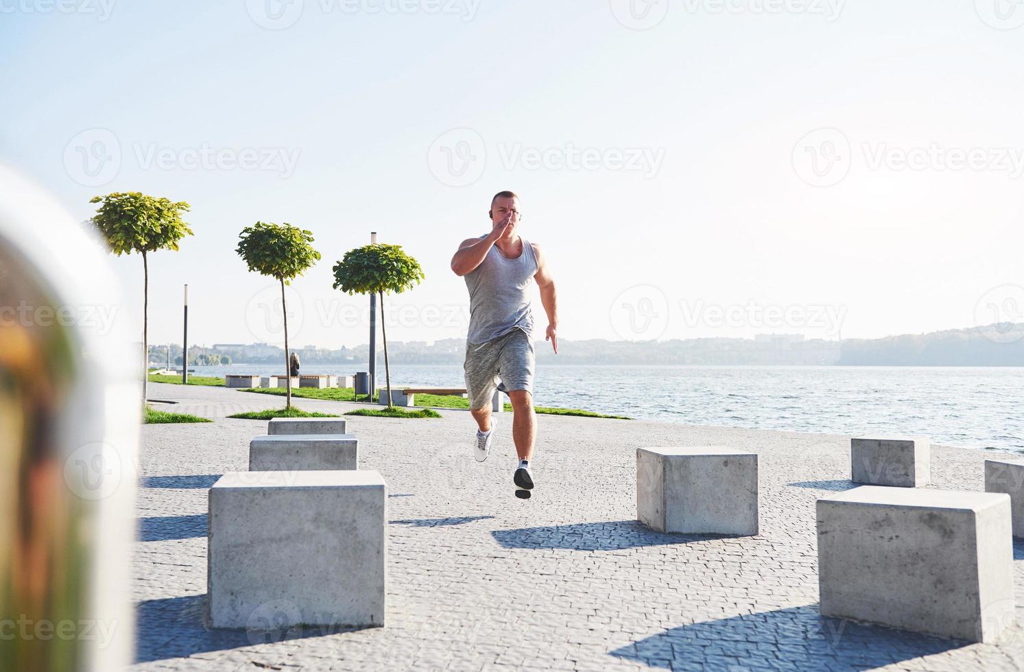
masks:
POLYGON ((524 389, 532 395, 534 365, 534 340, 518 328, 485 343, 466 343, 463 370, 469 408, 489 406, 496 389, 503 392, 524 389))

